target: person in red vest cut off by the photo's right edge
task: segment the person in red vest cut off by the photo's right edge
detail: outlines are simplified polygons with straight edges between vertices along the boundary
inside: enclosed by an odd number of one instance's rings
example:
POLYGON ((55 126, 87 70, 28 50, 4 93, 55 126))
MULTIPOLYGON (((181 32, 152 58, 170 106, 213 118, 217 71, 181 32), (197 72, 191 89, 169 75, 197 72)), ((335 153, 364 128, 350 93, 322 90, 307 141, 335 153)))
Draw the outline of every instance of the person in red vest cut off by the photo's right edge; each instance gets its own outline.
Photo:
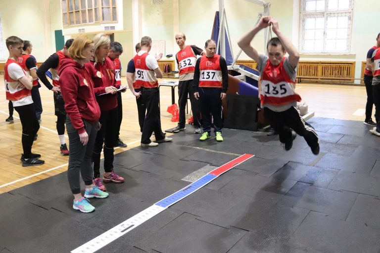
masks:
MULTIPOLYGON (((380 48, 380 47, 379 47, 380 48)), ((380 120, 378 112, 380 112, 380 50, 377 48, 371 57, 372 62, 372 73, 374 75, 372 79, 372 92, 374 95, 374 104, 376 108, 375 117, 377 121, 377 126, 370 130, 371 133, 380 136, 380 120)))

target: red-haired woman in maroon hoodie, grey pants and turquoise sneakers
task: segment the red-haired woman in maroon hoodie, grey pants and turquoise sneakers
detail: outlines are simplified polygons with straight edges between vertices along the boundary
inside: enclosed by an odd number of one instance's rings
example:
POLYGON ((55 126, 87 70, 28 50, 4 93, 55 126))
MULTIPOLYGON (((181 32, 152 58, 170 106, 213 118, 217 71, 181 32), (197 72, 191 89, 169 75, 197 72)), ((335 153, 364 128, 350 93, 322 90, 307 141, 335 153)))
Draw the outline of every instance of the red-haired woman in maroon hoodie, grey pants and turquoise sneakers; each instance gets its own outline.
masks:
POLYGON ((71 59, 63 59, 58 74, 61 93, 65 101, 66 129, 69 135, 70 157, 67 168, 70 189, 74 195, 73 208, 91 212, 95 208, 82 197, 79 174, 86 185, 86 198, 106 198, 108 193, 93 186, 91 157, 96 132, 99 129, 100 109, 95 99, 92 69, 85 67, 94 56, 92 40, 80 36, 69 48, 71 59))

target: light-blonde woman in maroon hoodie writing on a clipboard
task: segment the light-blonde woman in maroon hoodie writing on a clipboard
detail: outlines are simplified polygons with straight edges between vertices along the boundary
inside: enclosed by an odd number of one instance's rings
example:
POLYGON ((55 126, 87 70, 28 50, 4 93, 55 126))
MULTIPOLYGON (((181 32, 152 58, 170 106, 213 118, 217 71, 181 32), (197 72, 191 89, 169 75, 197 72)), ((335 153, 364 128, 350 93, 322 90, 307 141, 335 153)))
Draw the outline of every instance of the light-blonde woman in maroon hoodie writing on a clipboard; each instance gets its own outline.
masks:
POLYGON ((118 133, 117 111, 117 84, 113 62, 107 57, 111 40, 103 33, 94 37, 95 62, 86 63, 95 67, 94 90, 96 101, 100 107, 101 128, 96 134, 93 152, 93 183, 100 190, 105 191, 105 186, 100 178, 100 153, 104 154, 103 182, 122 183, 124 178, 113 170, 114 144, 118 133), (107 92, 111 90, 111 92, 107 92), (104 146, 103 146, 104 144, 104 146))

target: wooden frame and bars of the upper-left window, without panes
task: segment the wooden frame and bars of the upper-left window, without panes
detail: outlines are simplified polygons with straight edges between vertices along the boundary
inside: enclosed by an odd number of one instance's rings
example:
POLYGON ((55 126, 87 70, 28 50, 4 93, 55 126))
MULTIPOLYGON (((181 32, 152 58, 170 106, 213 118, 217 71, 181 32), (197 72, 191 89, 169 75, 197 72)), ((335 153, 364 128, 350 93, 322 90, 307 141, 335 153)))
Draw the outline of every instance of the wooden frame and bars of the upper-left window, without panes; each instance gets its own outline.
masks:
POLYGON ((91 25, 91 24, 96 24, 96 23, 118 23, 117 0, 108 0, 108 1, 109 1, 109 6, 105 6, 105 5, 103 6, 103 0, 85 0, 86 6, 85 8, 83 8, 81 0, 60 0, 63 27, 91 25), (70 7, 69 2, 72 4, 72 10, 70 10, 69 8, 70 7), (89 8, 89 2, 92 3, 91 8, 89 8), (77 3, 78 9, 76 8, 75 3, 77 3), (109 8, 110 20, 108 21, 103 20, 103 8, 109 8), (113 15, 113 9, 115 9, 116 17, 114 17, 113 15), (86 11, 86 22, 83 22, 83 16, 82 16, 83 11, 86 11), (92 15, 89 14, 90 11, 92 11, 92 15), (77 20, 78 18, 76 15, 77 12, 79 12, 79 20, 77 20), (95 12, 97 12, 97 15, 95 12), (71 13, 72 13, 73 20, 71 20, 70 18, 71 13), (89 22, 90 16, 92 16, 93 22, 89 22), (70 23, 70 22, 73 22, 73 23, 70 23))

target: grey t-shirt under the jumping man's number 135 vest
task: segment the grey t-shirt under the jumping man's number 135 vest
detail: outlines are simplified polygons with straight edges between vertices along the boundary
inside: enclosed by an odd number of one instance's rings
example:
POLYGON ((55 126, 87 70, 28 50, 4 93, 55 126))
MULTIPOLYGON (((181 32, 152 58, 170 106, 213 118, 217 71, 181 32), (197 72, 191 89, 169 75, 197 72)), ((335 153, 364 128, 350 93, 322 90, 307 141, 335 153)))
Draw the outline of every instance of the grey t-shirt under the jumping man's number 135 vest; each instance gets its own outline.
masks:
MULTIPOLYGON (((262 76, 263 72, 264 72, 264 68, 267 65, 267 62, 269 61, 269 57, 267 55, 262 54, 262 53, 260 53, 259 57, 260 57, 260 60, 257 63, 257 70, 260 72, 260 76, 262 76)), ((290 80, 295 81, 296 76, 297 76, 298 65, 295 67, 292 67, 289 63, 289 58, 286 57, 284 60, 284 69, 285 69, 287 76, 290 78, 290 80)), ((271 109, 272 111, 275 111, 275 112, 283 112, 292 106, 297 106, 297 102, 292 102, 292 103, 282 105, 282 106, 273 106, 270 104, 264 104, 262 106, 268 107, 269 109, 271 109)))

